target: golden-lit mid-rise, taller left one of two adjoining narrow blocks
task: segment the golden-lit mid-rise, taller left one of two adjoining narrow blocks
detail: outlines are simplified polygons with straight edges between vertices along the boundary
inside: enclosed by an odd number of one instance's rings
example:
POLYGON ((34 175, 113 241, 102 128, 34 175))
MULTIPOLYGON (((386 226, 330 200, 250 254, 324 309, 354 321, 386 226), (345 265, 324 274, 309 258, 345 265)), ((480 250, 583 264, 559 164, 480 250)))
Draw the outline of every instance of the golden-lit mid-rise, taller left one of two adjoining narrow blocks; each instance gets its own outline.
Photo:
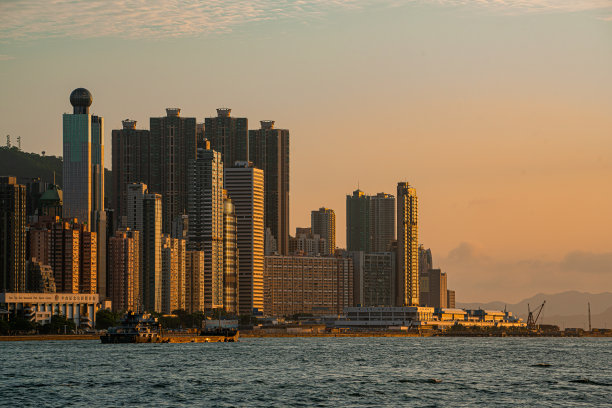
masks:
POLYGON ((185 309, 185 240, 162 237, 162 313, 185 309))

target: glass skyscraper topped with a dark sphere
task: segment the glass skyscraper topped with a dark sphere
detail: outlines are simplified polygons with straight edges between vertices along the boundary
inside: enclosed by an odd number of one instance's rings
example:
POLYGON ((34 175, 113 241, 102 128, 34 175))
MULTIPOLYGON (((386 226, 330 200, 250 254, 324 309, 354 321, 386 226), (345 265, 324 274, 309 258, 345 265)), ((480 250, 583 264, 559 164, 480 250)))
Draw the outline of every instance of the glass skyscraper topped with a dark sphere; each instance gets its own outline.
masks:
POLYGON ((104 212, 104 118, 89 114, 93 98, 85 88, 70 94, 73 113, 63 116, 64 218, 76 218, 97 233, 97 291, 106 297, 106 213, 104 212))

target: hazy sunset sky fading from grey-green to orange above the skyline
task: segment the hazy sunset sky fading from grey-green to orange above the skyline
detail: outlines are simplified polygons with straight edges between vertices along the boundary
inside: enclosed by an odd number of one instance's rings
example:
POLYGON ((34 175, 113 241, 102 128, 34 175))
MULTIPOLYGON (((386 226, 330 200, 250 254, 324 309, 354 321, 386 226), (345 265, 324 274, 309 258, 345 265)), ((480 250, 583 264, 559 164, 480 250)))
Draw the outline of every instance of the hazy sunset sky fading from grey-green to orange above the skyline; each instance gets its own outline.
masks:
POLYGON ((340 247, 347 194, 408 181, 457 301, 612 291, 612 0, 0 0, 0 83, 55 155, 89 89, 109 168, 122 119, 275 120, 291 230, 332 208, 340 247))

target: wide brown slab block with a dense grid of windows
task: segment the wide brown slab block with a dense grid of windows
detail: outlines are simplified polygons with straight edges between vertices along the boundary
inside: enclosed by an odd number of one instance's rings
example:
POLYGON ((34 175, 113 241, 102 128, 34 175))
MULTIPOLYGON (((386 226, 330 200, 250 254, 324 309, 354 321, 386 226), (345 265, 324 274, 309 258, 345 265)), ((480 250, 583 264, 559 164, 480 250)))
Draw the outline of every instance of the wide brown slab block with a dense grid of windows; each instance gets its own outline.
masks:
POLYGON ((340 314, 353 304, 350 258, 267 256, 265 314, 340 314))

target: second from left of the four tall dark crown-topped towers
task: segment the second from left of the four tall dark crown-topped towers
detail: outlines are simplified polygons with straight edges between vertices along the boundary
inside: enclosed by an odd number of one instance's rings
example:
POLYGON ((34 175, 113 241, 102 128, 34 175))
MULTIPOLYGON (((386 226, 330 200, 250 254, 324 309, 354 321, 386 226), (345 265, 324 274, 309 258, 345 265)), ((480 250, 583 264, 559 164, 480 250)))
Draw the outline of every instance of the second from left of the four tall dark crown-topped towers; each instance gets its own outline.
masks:
POLYGON ((166 109, 166 116, 151 118, 149 146, 150 176, 142 180, 151 193, 163 200, 163 232, 187 213, 187 165, 196 158, 196 120, 180 117, 178 108, 166 109))

